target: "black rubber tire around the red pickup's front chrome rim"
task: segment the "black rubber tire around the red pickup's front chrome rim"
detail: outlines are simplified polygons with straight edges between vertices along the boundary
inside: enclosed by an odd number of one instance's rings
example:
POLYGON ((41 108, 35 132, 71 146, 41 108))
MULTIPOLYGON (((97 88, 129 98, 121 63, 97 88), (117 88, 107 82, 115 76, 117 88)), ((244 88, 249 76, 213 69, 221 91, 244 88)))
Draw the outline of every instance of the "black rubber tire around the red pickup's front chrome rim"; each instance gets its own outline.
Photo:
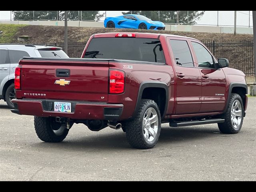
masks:
MULTIPOLYGON (((240 115, 240 114, 238 114, 238 115, 240 115)), ((244 120, 244 106, 243 106, 242 98, 240 97, 239 94, 236 94, 236 93, 231 94, 231 98, 228 103, 228 109, 223 114, 222 118, 225 119, 225 122, 218 123, 220 132, 222 132, 224 134, 236 134, 241 130, 243 120, 244 120), (234 116, 236 116, 236 113, 232 112, 233 111, 232 106, 234 106, 236 104, 235 103, 236 101, 240 102, 240 108, 241 108, 240 110, 242 111, 242 112, 239 112, 241 114, 241 118, 240 118, 240 120, 237 121, 237 122, 240 122, 239 125, 236 125, 236 123, 234 124, 232 122, 232 119, 234 119, 234 116), (232 115, 233 115, 233 118, 231 117, 232 115)), ((239 119, 239 117, 237 117, 237 118, 239 119)))

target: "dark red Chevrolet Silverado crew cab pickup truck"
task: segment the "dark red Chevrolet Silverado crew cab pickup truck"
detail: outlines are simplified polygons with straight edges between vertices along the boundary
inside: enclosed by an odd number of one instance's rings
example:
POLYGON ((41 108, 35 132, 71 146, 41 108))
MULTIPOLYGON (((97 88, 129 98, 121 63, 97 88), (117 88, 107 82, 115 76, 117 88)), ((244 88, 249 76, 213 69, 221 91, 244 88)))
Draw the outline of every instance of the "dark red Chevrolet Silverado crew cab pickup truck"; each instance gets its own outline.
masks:
POLYGON ((126 132, 134 148, 152 148, 161 123, 218 123, 238 133, 247 107, 245 75, 183 36, 105 33, 82 58, 23 58, 12 112, 34 116, 38 137, 61 142, 74 123, 126 132))

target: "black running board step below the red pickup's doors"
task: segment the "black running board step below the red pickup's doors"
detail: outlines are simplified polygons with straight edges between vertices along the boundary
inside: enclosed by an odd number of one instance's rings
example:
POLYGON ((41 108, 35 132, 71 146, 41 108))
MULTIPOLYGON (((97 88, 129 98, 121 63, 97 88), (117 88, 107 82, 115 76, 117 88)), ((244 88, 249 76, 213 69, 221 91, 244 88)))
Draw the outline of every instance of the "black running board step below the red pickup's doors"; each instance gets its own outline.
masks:
POLYGON ((192 125, 204 125, 212 123, 224 123, 224 119, 206 119, 200 121, 187 121, 187 122, 170 122, 170 127, 183 127, 183 126, 192 126, 192 125))

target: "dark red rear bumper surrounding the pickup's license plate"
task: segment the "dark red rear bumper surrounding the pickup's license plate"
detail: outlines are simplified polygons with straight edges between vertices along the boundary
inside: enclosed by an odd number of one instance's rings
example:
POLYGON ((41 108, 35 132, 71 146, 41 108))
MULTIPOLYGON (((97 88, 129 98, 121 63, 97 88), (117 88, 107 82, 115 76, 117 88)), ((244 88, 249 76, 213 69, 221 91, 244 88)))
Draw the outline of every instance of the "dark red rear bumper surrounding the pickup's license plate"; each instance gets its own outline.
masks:
POLYGON ((11 111, 20 115, 40 117, 65 117, 77 120, 118 120, 122 115, 122 104, 71 102, 72 112, 54 112, 54 101, 57 100, 19 100, 13 99, 14 109, 11 111))

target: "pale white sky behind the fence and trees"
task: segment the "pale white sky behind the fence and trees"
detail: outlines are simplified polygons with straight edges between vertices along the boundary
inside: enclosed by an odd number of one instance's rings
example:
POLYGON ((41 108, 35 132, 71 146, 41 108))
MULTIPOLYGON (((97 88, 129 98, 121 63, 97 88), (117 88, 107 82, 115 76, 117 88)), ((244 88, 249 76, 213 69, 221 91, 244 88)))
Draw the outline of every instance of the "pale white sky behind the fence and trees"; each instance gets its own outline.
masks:
MULTIPOLYGON (((100 11, 105 13, 105 11, 100 11)), ((120 16, 125 11, 107 11, 106 16, 120 16)), ((217 25, 217 12, 219 12, 219 25, 234 25, 234 11, 205 11, 197 24, 217 25)), ((249 26, 249 11, 237 11, 237 26, 249 26)), ((10 11, 0 11, 0 20, 10 20, 10 11)), ((101 20, 104 20, 102 18, 101 20)), ((250 26, 252 26, 252 11, 250 11, 250 26)))

